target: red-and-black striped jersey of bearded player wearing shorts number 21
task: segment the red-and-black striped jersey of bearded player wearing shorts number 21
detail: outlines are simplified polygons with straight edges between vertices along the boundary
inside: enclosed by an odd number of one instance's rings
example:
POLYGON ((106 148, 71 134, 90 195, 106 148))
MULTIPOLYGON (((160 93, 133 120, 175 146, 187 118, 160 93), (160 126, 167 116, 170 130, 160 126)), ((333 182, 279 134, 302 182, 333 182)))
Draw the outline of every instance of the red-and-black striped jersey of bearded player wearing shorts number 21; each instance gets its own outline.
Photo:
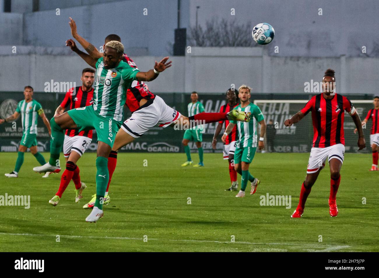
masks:
MULTIPOLYGON (((64 96, 64 99, 61 103, 61 107, 66 108, 70 105, 70 110, 79 108, 79 107, 85 107, 89 106, 93 103, 94 99, 94 89, 91 88, 89 91, 83 91, 81 89, 81 86, 71 88, 66 95, 64 96)), ((92 138, 92 130, 82 130, 79 132, 77 129, 66 129, 66 135, 73 137, 73 136, 85 136, 88 138, 92 138)))

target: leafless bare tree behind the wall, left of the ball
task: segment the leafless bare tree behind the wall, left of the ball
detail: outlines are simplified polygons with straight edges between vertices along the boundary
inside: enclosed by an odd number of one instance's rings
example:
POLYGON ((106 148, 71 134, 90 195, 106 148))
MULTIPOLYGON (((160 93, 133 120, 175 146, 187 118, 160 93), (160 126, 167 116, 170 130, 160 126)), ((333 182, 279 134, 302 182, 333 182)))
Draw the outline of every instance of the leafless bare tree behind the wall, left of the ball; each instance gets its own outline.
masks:
POLYGON ((252 36, 251 22, 238 25, 235 20, 217 20, 189 28, 188 43, 198 47, 256 47, 252 36))

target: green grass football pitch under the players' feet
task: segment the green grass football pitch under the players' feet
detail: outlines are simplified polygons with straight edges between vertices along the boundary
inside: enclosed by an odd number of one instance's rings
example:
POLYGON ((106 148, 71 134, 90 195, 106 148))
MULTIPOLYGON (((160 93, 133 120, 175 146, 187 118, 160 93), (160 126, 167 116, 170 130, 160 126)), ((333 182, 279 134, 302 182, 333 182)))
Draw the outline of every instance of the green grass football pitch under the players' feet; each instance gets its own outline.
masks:
MULTIPOLYGON (((197 162, 197 154, 192 156, 197 162)), ((185 154, 119 153, 111 202, 94 224, 85 222, 90 211, 81 207, 96 192, 96 154, 86 153, 78 162, 88 186, 84 198, 75 203, 71 182, 56 207, 48 201, 58 190, 60 174, 42 179, 32 171, 38 162, 25 154, 18 178, 0 177, 0 195, 30 195, 30 209, 0 207, 0 245, 8 252, 378 252, 379 172, 368 171, 371 155, 345 154, 338 217, 329 216, 326 168, 313 186, 303 218, 291 219, 308 157, 257 153, 250 168, 261 184, 253 196, 248 184, 241 199, 224 191, 230 179, 222 154, 205 154, 204 168, 183 168, 185 154), (260 196, 267 193, 291 196, 292 207, 261 206, 260 196)), ((0 173, 11 172, 15 161, 16 154, 1 153, 0 173)))

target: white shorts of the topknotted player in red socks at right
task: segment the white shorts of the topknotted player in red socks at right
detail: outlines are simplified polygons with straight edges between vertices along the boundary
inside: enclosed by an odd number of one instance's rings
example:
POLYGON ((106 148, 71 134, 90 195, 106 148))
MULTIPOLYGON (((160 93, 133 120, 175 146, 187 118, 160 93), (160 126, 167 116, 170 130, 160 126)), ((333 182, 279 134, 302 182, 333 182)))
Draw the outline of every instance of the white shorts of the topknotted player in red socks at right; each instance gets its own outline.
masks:
POLYGON ((312 148, 308 162, 307 174, 312 174, 325 166, 326 158, 328 162, 332 158, 337 158, 343 163, 345 156, 345 146, 343 144, 335 144, 327 148, 312 148))

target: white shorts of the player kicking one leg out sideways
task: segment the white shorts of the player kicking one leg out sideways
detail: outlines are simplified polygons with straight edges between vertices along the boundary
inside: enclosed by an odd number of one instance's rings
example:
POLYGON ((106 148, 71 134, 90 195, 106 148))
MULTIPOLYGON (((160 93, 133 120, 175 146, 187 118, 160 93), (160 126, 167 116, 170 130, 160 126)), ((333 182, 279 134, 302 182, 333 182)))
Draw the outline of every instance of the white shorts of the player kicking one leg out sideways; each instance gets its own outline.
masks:
POLYGON ((166 127, 179 119, 181 114, 169 107, 160 96, 148 100, 132 116, 122 123, 121 128, 134 138, 141 137, 147 130, 156 126, 166 127))

